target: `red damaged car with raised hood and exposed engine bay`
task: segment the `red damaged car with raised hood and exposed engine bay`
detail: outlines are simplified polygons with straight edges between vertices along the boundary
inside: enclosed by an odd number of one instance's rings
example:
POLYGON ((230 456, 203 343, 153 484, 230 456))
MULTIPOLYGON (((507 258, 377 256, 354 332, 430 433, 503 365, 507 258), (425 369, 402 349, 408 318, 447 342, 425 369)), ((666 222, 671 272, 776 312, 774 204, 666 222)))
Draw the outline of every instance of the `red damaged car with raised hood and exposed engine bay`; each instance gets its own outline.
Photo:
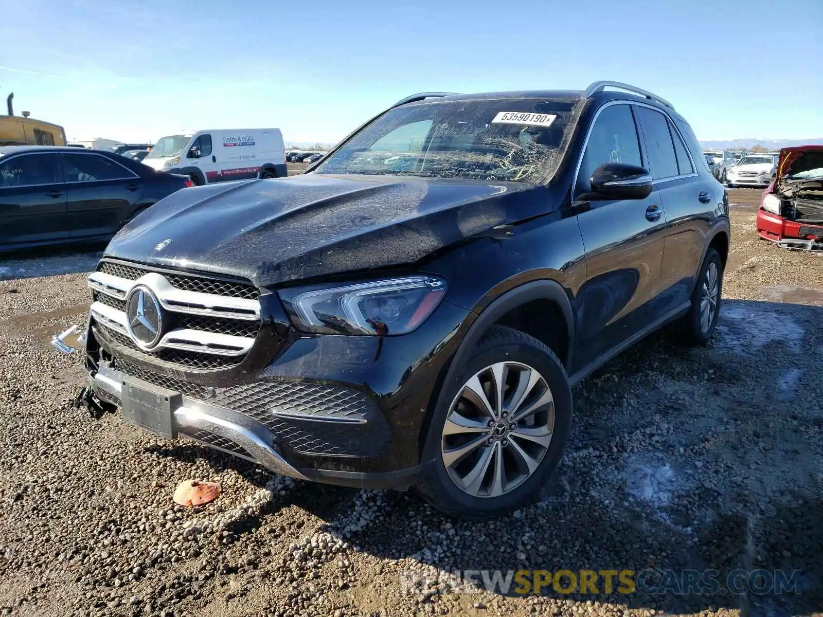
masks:
POLYGON ((783 248, 823 251, 823 146, 783 148, 760 197, 757 233, 783 248))

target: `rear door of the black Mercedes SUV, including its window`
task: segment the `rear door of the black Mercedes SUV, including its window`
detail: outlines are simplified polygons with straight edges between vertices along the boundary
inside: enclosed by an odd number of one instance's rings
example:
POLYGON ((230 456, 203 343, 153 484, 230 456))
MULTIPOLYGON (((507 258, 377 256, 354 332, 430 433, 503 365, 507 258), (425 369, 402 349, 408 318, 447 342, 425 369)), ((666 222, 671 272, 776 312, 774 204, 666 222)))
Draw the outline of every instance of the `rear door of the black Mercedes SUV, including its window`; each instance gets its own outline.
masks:
POLYGON ((671 310, 690 299, 709 221, 714 219, 714 193, 718 186, 709 174, 697 173, 696 161, 666 114, 638 106, 637 116, 649 151, 654 187, 660 192, 668 221, 662 297, 666 299, 667 310, 671 310))

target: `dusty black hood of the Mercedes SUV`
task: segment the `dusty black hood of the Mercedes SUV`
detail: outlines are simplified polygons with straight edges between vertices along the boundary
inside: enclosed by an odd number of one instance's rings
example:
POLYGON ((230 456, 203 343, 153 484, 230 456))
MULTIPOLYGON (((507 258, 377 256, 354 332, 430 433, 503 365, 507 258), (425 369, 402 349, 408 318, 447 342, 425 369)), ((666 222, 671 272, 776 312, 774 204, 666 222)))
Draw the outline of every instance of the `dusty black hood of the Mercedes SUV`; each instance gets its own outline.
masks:
POLYGON ((304 174, 186 188, 126 225, 105 255, 272 285, 413 263, 551 210, 545 187, 304 174), (530 198, 513 198, 532 189, 530 198))

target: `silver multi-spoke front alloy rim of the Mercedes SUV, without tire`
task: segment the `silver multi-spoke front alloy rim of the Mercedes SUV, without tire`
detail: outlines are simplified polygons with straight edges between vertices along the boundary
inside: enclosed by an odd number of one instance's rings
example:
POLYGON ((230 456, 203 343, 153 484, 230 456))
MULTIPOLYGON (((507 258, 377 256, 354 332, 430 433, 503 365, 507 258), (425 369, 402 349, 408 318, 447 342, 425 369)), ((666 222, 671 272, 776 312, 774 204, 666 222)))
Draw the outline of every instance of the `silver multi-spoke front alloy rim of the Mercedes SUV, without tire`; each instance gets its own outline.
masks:
POLYGON ((499 497, 537 471, 554 425, 554 397, 536 369, 491 364, 463 384, 449 407, 440 447, 444 466, 463 492, 499 497))

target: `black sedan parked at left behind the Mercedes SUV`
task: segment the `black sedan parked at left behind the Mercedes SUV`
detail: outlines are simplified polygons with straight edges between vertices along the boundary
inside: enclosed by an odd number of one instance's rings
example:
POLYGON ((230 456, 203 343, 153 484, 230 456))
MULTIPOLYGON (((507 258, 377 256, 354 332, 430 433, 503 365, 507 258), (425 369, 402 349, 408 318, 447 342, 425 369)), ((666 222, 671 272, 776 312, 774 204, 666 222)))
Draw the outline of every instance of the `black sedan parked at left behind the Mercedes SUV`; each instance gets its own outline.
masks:
POLYGON ((0 147, 0 250, 97 242, 163 197, 191 186, 99 150, 0 147))

